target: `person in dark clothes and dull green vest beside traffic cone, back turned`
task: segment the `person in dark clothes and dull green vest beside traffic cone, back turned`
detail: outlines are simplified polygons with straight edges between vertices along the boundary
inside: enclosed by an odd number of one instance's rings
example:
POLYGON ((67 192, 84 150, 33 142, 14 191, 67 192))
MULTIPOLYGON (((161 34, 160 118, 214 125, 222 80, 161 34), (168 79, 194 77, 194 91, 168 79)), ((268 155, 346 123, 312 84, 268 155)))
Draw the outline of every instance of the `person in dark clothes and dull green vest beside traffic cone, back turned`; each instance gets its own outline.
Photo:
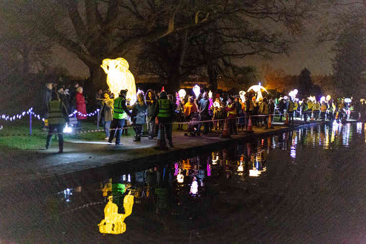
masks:
POLYGON ((166 134, 166 138, 169 141, 169 147, 174 147, 171 135, 172 119, 173 119, 173 103, 167 99, 166 92, 162 91, 159 94, 159 100, 156 103, 155 116, 158 117, 159 131, 158 131, 158 141, 154 146, 155 149, 165 149, 162 144, 166 134))

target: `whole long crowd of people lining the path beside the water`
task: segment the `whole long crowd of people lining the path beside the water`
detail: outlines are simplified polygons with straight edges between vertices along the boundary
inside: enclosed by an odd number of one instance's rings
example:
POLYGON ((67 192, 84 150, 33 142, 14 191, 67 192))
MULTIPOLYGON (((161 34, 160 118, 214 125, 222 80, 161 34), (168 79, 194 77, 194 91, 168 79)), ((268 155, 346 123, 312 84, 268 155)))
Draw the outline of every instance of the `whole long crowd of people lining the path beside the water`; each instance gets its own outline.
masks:
MULTIPOLYGON (((64 86, 55 87, 52 83, 46 84, 44 96, 45 113, 48 119, 49 135, 46 148, 50 143, 53 131, 59 135, 59 149, 62 153, 62 124, 68 118, 75 116, 78 127, 86 119, 86 101, 82 95, 83 89, 78 83, 65 89, 64 86), (77 111, 72 113, 72 111, 77 111)), ((98 122, 105 130, 105 140, 121 145, 122 133, 127 133, 127 125, 132 125, 135 131, 134 142, 141 141, 142 130, 148 134, 148 139, 157 136, 155 148, 164 149, 174 147, 172 141, 172 125, 177 122, 178 130, 183 130, 183 123, 187 123, 187 131, 206 135, 212 130, 223 130, 227 119, 229 135, 236 135, 238 130, 247 130, 248 125, 268 128, 268 119, 279 121, 287 118, 290 124, 295 119, 304 120, 344 120, 349 117, 353 109, 352 103, 344 99, 333 101, 314 97, 298 100, 295 97, 270 98, 263 97, 254 91, 245 94, 230 95, 214 94, 209 97, 207 91, 200 95, 179 97, 160 93, 154 90, 140 91, 136 102, 130 104, 126 99, 127 90, 121 90, 117 98, 109 91, 101 89, 95 94, 96 108, 100 109, 98 122), (146 127, 143 126, 146 124, 146 127), (167 141, 167 143, 166 143, 167 141)))

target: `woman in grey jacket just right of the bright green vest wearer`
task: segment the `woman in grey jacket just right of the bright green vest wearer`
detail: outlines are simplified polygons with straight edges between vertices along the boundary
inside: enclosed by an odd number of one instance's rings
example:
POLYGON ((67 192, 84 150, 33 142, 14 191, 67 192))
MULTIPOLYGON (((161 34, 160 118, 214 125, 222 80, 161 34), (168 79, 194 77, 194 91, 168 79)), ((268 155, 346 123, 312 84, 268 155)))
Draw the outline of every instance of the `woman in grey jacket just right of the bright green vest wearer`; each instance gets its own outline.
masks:
POLYGON ((142 93, 139 93, 137 96, 137 101, 132 107, 132 120, 134 122, 134 126, 136 128, 136 136, 133 140, 134 142, 140 142, 141 141, 141 131, 142 131, 142 125, 145 123, 145 111, 146 111, 147 105, 145 103, 145 98, 142 93))

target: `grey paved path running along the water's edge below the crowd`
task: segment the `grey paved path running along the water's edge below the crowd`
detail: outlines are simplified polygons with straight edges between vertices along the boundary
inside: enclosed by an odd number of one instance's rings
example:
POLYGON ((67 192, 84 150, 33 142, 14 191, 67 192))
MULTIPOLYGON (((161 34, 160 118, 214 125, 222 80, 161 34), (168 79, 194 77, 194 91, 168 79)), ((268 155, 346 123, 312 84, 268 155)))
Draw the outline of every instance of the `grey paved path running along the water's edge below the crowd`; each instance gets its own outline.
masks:
MULTIPOLYGON (((304 124, 300 121, 295 123, 295 126, 304 124)), ((201 137, 186 137, 184 132, 174 131, 173 143, 175 148, 169 150, 154 149, 155 139, 141 138, 141 142, 133 142, 132 137, 122 136, 123 145, 118 146, 103 140, 65 142, 64 153, 58 154, 58 143, 53 142, 48 150, 40 148, 39 150, 10 152, 5 156, 0 154, 2 168, 0 186, 7 185, 9 182, 21 183, 44 179, 116 163, 161 161, 163 157, 176 157, 179 153, 189 149, 209 147, 233 139, 288 129, 283 123, 277 122, 274 125, 274 129, 268 130, 254 127, 254 133, 239 131, 238 135, 232 136, 230 139, 221 138, 221 131, 214 131, 201 137)))

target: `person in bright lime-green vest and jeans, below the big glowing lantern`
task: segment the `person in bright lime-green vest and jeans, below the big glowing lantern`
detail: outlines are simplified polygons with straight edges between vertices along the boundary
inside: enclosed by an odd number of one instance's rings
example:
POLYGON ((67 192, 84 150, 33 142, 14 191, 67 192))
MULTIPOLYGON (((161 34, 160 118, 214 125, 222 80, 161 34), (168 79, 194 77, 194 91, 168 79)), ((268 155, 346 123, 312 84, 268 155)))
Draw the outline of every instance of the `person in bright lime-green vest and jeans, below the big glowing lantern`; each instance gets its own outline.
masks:
POLYGON ((120 91, 120 96, 114 100, 113 103, 113 121, 112 121, 112 128, 117 129, 115 133, 110 133, 108 142, 112 143, 114 137, 116 136, 116 145, 122 145, 121 142, 121 135, 122 135, 122 128, 124 126, 125 119, 127 115, 131 116, 131 112, 128 110, 126 106, 126 90, 120 91))

